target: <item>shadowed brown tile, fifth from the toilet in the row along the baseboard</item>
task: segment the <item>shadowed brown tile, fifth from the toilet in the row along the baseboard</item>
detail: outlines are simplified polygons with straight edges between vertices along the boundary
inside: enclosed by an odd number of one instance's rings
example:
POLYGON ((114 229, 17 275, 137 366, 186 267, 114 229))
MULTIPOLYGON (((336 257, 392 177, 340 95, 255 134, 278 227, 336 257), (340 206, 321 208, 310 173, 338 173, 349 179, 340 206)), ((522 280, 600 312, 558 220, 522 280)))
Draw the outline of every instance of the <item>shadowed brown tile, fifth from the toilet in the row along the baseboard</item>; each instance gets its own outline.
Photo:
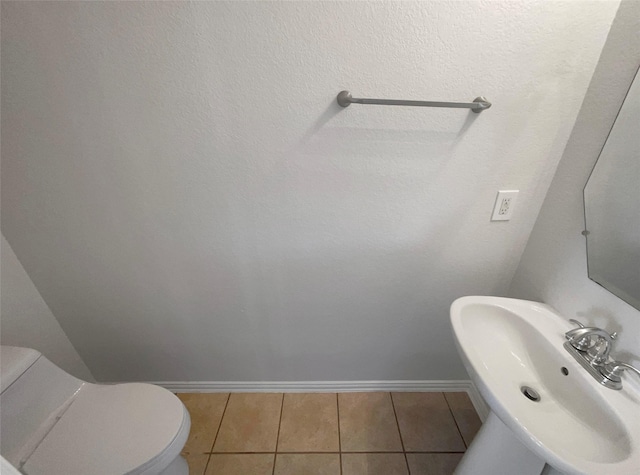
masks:
POLYGON ((407 452, 464 452, 465 445, 442 393, 393 393, 407 452))

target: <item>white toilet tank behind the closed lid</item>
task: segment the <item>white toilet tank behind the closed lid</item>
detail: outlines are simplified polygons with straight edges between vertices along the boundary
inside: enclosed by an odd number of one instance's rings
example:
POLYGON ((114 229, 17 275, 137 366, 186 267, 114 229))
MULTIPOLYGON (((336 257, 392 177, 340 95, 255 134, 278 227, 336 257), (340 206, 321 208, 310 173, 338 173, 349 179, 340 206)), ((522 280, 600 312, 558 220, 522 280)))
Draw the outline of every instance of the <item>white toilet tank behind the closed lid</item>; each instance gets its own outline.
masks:
POLYGON ((4 345, 0 382, 0 453, 19 469, 84 382, 36 350, 4 345))

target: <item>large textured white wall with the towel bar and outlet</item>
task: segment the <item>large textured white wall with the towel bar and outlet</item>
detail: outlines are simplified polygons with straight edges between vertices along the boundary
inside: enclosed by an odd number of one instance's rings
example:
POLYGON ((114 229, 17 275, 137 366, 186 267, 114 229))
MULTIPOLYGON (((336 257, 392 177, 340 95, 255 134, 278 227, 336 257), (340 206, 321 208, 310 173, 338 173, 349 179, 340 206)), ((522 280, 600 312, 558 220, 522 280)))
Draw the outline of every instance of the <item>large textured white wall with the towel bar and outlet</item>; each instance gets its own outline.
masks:
POLYGON ((3 232, 100 380, 465 378, 616 8, 3 2, 3 232))

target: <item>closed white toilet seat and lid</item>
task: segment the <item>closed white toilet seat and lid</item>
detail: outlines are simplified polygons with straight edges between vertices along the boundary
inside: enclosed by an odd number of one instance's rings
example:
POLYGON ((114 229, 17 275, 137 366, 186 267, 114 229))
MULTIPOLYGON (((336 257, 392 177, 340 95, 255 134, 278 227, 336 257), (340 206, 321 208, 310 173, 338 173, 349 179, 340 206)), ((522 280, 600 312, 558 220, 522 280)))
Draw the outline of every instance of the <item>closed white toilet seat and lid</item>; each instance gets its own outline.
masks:
POLYGON ((171 392, 143 383, 84 384, 31 454, 29 475, 159 473, 178 456, 190 418, 171 392))

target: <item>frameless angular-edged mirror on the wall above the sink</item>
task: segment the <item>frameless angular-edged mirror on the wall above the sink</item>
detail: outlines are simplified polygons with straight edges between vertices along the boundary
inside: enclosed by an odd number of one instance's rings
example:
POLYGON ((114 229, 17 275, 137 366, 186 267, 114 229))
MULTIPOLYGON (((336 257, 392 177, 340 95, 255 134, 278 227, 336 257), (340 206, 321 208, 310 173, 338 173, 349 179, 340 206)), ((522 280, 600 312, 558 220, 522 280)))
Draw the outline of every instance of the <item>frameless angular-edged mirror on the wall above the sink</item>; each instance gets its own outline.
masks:
POLYGON ((589 278, 640 310, 640 73, 584 189, 589 278))

